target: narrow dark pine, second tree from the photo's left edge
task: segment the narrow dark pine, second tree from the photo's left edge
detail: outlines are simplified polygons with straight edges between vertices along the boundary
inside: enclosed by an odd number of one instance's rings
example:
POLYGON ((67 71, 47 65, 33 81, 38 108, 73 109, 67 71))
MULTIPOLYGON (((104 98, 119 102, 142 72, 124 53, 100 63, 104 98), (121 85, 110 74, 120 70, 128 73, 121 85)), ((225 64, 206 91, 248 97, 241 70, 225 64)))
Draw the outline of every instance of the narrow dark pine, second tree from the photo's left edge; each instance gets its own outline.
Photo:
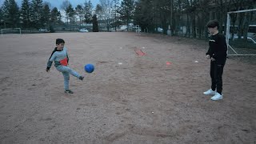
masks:
POLYGON ((22 22, 23 28, 30 28, 30 18, 32 14, 31 4, 29 0, 23 0, 22 1, 22 8, 20 11, 20 18, 22 22))

